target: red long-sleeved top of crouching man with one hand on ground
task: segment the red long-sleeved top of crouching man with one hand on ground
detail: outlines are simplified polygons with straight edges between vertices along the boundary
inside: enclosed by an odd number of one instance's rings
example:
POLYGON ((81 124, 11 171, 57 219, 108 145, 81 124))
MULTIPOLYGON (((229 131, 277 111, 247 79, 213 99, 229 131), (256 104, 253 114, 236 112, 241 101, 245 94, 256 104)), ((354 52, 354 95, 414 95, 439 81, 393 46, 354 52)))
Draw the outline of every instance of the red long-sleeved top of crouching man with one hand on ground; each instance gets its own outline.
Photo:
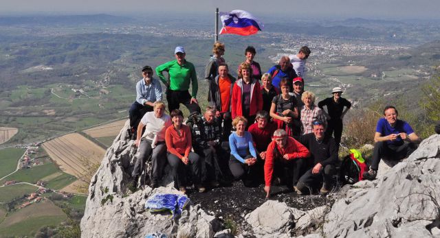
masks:
POLYGON ((274 172, 274 160, 281 159, 284 160, 283 156, 287 154, 287 160, 292 160, 295 158, 306 158, 310 156, 309 150, 303 144, 299 143, 292 137, 287 137, 287 143, 284 148, 279 147, 276 141, 272 141, 267 147, 266 159, 264 163, 264 179, 265 185, 270 186, 272 182, 272 174, 274 172), (278 149, 277 153, 281 158, 274 157, 274 151, 278 149))

